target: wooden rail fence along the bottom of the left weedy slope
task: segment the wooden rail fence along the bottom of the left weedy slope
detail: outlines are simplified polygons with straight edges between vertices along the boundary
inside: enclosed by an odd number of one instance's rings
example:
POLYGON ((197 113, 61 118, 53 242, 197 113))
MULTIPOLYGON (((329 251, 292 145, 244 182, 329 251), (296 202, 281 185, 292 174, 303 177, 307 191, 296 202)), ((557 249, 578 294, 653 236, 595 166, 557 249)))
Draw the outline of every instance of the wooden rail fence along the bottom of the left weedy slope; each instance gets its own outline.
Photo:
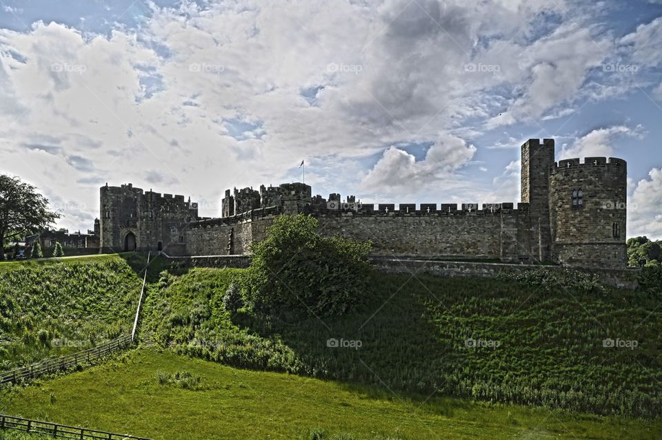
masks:
POLYGON ((6 384, 8 382, 16 384, 18 381, 34 379, 49 373, 68 370, 77 366, 79 362, 94 362, 101 357, 110 355, 110 353, 126 348, 131 344, 131 335, 124 335, 117 339, 113 339, 110 342, 106 342, 106 344, 101 344, 94 348, 88 348, 88 350, 56 357, 54 359, 46 359, 32 365, 16 368, 15 370, 4 371, 0 373, 0 384, 6 384))

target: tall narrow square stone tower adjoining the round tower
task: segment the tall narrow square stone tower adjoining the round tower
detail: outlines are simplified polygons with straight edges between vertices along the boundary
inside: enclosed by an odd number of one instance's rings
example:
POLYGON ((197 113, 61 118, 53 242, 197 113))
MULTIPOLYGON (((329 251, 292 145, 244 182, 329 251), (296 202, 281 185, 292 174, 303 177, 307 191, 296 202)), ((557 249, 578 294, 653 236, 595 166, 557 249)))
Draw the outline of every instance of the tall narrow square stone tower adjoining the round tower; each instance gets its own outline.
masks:
POLYGON ((529 139, 522 145, 522 202, 529 204, 528 244, 530 258, 552 259, 550 232, 550 173, 554 166, 554 139, 529 139))

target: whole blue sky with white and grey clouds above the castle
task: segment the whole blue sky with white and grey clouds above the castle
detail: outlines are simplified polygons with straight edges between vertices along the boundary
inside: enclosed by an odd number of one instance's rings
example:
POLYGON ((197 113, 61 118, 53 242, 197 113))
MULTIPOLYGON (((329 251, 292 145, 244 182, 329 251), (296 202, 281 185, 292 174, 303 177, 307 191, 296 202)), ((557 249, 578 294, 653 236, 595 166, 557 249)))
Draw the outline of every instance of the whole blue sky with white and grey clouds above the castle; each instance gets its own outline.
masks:
POLYGON ((0 172, 88 229, 99 187, 300 180, 365 202, 516 202, 519 146, 628 160, 662 238, 662 1, 0 0, 0 172))

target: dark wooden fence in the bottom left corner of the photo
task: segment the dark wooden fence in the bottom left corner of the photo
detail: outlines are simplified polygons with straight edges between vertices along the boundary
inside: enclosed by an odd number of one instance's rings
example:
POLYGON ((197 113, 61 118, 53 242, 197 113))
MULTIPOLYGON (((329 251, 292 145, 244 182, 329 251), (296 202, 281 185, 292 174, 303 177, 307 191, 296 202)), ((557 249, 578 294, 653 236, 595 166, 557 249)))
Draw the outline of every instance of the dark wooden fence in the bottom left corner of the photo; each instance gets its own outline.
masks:
POLYGON ((31 419, 21 419, 21 417, 12 417, 0 415, 0 429, 15 429, 20 431, 32 432, 33 434, 46 434, 61 439, 79 439, 79 440, 150 440, 144 437, 134 437, 125 434, 113 434, 112 432, 97 431, 87 428, 77 428, 75 426, 60 425, 59 423, 50 423, 48 421, 39 421, 31 419))

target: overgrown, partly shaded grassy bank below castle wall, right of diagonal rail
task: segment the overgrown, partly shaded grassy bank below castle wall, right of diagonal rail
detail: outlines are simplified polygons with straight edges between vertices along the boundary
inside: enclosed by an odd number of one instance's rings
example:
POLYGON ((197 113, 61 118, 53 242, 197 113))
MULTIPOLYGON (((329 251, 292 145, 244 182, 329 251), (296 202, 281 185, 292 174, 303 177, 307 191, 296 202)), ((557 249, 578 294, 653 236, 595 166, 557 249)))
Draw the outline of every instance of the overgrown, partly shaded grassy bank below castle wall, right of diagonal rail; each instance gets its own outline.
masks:
POLYGON ((233 366, 485 401, 659 417, 662 309, 627 291, 596 296, 472 278, 379 275, 363 311, 283 322, 230 315, 235 271, 192 269, 152 291, 143 336, 233 366), (360 350, 327 339, 360 339, 360 350), (467 348, 492 339, 496 349, 467 348), (635 350, 603 339, 636 339, 635 350))

